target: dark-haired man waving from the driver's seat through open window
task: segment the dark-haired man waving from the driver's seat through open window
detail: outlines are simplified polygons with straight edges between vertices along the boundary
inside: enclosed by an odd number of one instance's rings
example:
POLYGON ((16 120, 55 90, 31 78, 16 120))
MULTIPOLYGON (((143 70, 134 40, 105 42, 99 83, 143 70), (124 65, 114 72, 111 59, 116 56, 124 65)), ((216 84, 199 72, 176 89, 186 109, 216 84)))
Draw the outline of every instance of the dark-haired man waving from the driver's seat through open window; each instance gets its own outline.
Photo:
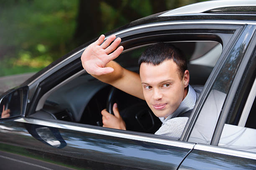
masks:
MULTIPOLYGON (((169 44, 150 46, 139 59, 138 75, 112 61, 123 51, 122 46, 117 48, 121 39, 115 39, 112 35, 103 42, 104 38, 104 35, 100 36, 82 54, 84 69, 105 83, 145 99, 150 109, 163 122, 155 134, 180 137, 188 120, 188 117, 180 116, 194 108, 200 91, 196 92, 189 86, 186 58, 169 44), (114 42, 110 45, 112 41, 114 42)), ((115 115, 109 114, 106 109, 102 110, 103 127, 126 129, 117 104, 114 104, 113 112, 115 115)))

